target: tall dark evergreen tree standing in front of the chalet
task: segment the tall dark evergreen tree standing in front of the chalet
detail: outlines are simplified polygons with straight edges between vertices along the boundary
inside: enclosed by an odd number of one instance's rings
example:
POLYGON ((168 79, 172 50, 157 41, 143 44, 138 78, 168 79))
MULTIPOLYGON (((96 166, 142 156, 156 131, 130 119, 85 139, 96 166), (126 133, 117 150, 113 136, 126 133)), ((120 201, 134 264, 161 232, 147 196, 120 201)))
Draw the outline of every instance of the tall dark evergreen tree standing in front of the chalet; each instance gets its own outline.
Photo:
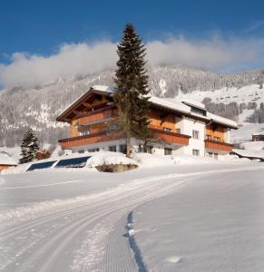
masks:
POLYGON ((126 139, 126 155, 130 157, 132 137, 143 141, 151 137, 147 96, 150 90, 144 60, 146 49, 132 24, 126 24, 122 41, 117 47, 119 60, 115 71, 116 92, 113 100, 119 112, 119 131, 126 139))

